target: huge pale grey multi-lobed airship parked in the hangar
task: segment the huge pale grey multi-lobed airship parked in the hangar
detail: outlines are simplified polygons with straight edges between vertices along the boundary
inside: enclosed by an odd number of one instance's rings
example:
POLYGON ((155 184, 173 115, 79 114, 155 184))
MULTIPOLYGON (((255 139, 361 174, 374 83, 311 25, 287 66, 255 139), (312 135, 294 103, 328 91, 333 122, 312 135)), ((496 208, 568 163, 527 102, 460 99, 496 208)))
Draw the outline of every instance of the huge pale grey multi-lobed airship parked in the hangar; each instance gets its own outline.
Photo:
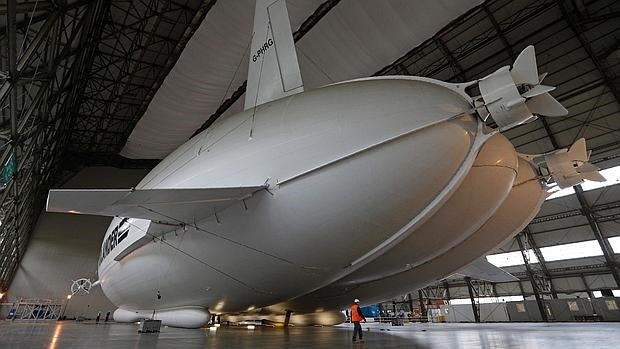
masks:
POLYGON ((245 110, 126 190, 50 190, 47 211, 113 217, 98 262, 116 321, 196 328, 213 315, 336 324, 460 273, 548 196, 604 180, 585 141, 520 154, 502 132, 567 110, 535 51, 481 79, 382 76, 304 90, 285 0, 257 0, 245 110))

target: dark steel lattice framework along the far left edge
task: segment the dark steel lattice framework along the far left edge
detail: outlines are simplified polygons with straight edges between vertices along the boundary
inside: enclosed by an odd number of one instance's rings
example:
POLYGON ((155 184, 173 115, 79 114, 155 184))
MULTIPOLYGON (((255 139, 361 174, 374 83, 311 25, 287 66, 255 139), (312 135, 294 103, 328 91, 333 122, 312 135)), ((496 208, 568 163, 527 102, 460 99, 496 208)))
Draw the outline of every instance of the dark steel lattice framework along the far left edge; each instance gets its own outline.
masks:
POLYGON ((8 52, 2 52, 0 59, 7 78, 0 100, 9 101, 9 108, 2 111, 2 125, 10 132, 2 130, 8 137, 2 141, 0 164, 4 168, 11 159, 15 167, 0 196, 0 289, 8 286, 15 273, 53 178, 61 153, 59 136, 67 126, 61 111, 75 92, 67 87, 87 63, 80 61, 89 47, 83 44, 88 42, 85 37, 96 32, 102 3, 37 6, 30 18, 28 11, 22 13, 21 23, 28 25, 19 25, 18 3, 7 3, 3 38, 8 52), (66 35, 58 36, 61 32, 66 35), (75 50, 77 54, 68 55, 75 50), (29 69, 44 70, 49 78, 24 79, 21 72, 29 69))

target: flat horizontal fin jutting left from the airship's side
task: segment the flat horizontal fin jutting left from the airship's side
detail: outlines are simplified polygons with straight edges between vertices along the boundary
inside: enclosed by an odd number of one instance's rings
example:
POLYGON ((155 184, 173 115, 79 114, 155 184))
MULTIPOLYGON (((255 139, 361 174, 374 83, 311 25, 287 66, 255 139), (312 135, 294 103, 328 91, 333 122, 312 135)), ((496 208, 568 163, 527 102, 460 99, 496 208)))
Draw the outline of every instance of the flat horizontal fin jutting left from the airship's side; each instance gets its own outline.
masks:
POLYGON ((47 197, 47 211, 193 223, 264 188, 54 189, 47 197))

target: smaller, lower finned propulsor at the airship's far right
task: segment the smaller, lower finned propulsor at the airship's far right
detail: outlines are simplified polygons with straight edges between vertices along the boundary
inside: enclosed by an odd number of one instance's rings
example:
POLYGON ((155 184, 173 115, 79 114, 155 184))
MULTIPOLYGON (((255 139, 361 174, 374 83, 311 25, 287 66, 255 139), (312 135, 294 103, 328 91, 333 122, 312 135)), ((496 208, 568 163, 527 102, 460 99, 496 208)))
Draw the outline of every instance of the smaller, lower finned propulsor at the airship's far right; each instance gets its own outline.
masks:
POLYGON ((584 180, 605 182, 599 168, 591 164, 586 140, 578 139, 569 149, 560 149, 545 155, 545 162, 551 177, 560 188, 572 187, 584 180))

